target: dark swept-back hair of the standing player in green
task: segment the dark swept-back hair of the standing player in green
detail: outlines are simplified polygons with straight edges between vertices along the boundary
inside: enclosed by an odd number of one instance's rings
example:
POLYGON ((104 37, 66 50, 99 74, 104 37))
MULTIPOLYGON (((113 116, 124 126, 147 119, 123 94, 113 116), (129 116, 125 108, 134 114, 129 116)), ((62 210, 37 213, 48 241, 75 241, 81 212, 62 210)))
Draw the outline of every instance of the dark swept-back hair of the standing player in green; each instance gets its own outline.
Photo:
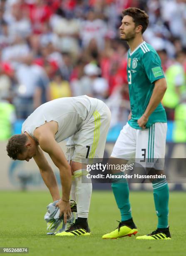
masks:
POLYGON ((141 25, 142 26, 142 30, 141 30, 142 34, 146 31, 146 28, 149 25, 149 15, 144 10, 141 10, 141 9, 135 8, 135 7, 130 7, 130 8, 124 9, 122 11, 122 14, 124 16, 125 15, 131 16, 133 18, 136 26, 141 25))

